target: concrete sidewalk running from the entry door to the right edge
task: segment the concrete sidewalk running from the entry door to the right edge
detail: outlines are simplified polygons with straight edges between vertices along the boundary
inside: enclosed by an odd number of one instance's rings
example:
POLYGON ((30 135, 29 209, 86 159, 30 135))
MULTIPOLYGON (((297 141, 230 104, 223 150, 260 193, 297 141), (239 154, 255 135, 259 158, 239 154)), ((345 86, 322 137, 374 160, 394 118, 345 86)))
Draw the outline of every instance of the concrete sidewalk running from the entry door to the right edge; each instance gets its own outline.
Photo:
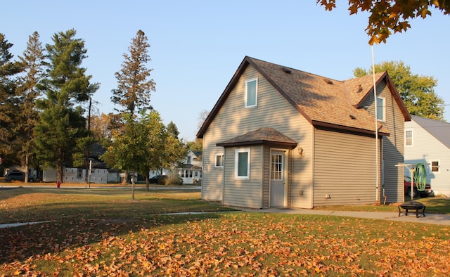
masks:
POLYGON ((408 216, 404 213, 399 217, 398 212, 352 212, 352 211, 330 211, 330 210, 309 210, 309 209, 277 209, 269 208, 262 210, 242 209, 245 212, 276 212, 280 214, 319 214, 330 215, 338 217, 357 217, 363 219, 384 219, 391 221, 401 222, 416 222, 425 224, 439 224, 450 226, 450 215, 448 214, 430 214, 425 212, 425 217, 419 213, 419 217, 416 217, 416 212, 409 212, 408 216))

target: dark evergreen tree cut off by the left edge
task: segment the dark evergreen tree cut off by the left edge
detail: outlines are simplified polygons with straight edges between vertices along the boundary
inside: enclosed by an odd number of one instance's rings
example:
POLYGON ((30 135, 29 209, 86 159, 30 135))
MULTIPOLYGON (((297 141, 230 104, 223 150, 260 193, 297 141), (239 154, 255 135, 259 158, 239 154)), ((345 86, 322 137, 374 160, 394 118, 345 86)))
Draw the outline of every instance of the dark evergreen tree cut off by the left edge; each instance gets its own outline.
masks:
POLYGON ((22 71, 22 67, 13 60, 13 54, 9 51, 12 46, 4 34, 0 33, 0 156, 4 158, 4 162, 5 160, 16 162, 11 147, 13 129, 17 124, 15 115, 18 112, 15 76, 22 71))

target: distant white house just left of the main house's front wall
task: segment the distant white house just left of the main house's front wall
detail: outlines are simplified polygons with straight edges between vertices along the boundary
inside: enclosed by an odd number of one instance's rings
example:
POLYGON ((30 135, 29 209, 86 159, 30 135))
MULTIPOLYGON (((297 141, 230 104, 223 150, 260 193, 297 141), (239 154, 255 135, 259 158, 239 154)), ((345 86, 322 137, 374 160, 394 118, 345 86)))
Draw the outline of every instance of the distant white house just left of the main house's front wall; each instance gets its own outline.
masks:
POLYGON ((183 183, 200 183, 202 179, 202 152, 188 150, 186 160, 178 167, 178 175, 183 183))

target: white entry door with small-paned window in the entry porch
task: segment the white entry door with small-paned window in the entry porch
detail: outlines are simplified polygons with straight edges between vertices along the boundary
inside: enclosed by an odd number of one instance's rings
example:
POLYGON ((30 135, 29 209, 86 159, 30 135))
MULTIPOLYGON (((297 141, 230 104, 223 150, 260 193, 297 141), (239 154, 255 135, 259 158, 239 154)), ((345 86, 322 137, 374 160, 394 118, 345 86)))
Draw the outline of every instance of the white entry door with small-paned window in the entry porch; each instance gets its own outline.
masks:
POLYGON ((270 205, 271 207, 284 207, 284 152, 272 151, 270 163, 270 205))

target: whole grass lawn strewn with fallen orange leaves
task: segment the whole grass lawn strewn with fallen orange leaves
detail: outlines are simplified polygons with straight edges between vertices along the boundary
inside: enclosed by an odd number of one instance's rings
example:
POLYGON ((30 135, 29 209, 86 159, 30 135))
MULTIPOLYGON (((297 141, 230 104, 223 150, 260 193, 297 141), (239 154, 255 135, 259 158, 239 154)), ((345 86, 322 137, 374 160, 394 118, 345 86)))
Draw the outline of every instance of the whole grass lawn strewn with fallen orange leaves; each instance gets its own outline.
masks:
POLYGON ((160 214, 224 210, 191 191, 139 190, 131 200, 125 189, 1 189, 0 224, 49 222, 1 229, 0 276, 450 273, 449 226, 257 212, 160 214))

